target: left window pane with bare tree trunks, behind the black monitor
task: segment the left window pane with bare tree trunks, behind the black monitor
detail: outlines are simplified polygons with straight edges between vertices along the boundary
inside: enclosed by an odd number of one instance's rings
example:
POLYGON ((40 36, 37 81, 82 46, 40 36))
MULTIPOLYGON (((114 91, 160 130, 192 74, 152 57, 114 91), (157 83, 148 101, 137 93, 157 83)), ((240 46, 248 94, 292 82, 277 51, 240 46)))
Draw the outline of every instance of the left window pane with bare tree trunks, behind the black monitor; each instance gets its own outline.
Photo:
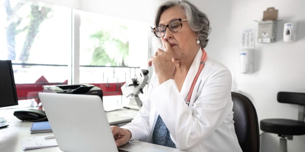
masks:
POLYGON ((42 85, 66 84, 69 78, 71 9, 32 1, 0 3, 0 60, 12 60, 19 106, 33 106, 42 85))

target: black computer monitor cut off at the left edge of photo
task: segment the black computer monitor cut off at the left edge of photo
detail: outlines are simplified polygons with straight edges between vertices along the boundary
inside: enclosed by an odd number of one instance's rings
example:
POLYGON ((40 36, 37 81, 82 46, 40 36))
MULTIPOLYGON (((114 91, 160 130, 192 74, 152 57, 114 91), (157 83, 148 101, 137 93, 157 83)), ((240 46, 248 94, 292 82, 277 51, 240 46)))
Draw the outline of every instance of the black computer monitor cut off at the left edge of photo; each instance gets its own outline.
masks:
POLYGON ((18 105, 12 61, 0 60, 0 107, 18 105))

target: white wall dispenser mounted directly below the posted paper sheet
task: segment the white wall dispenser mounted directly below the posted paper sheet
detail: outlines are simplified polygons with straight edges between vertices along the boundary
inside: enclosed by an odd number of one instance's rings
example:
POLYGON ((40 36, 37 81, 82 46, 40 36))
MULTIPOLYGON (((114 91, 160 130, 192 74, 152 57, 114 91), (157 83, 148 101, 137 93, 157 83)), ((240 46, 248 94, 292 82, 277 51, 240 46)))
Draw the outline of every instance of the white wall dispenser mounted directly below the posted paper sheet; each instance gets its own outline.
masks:
POLYGON ((253 73, 253 49, 243 49, 239 51, 240 73, 253 73))

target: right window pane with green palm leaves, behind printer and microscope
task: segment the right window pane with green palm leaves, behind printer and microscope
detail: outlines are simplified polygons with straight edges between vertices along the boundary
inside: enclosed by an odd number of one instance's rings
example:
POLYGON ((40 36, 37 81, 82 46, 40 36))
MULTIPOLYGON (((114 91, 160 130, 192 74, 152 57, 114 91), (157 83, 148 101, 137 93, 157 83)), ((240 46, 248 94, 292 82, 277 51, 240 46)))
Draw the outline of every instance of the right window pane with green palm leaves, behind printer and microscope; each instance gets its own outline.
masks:
POLYGON ((129 98, 122 98, 120 87, 122 82, 135 78, 136 68, 147 68, 149 25, 92 12, 79 13, 80 83, 100 85, 106 95, 104 104, 127 104, 129 98))

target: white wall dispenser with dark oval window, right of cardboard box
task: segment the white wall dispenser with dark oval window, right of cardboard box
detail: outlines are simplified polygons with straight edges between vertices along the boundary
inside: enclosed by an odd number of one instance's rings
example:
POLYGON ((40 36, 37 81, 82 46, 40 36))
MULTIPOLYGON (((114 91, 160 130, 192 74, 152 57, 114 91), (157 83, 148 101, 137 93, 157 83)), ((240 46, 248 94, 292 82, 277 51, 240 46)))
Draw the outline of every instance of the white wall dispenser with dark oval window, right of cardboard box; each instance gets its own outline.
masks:
POLYGON ((285 23, 284 24, 284 42, 296 41, 296 23, 285 23))

